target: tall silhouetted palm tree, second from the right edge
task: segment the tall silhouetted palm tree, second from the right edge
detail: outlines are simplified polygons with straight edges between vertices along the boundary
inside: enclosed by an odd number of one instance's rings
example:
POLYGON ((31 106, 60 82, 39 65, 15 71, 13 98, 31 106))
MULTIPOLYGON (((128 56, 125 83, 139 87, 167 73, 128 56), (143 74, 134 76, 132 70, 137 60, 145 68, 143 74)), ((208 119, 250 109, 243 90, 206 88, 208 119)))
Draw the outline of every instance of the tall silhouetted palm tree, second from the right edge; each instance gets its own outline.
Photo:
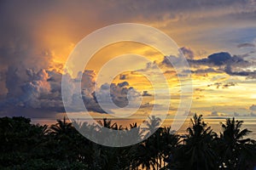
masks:
POLYGON ((179 157, 176 153, 176 159, 183 162, 184 169, 217 169, 216 156, 212 149, 212 141, 217 134, 202 121, 202 115, 195 114, 190 122, 192 127, 187 129, 189 134, 184 139, 185 145, 177 151, 182 154, 179 157))

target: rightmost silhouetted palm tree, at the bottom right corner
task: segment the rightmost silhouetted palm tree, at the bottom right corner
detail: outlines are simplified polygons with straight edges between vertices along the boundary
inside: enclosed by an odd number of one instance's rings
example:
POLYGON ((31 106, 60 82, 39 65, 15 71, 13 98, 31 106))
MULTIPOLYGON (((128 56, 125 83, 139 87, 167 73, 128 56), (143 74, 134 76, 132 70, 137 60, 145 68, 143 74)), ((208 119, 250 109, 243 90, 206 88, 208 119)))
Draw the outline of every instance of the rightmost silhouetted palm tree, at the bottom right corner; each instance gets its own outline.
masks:
POLYGON ((244 139, 251 131, 247 128, 241 129, 242 123, 234 117, 222 123, 223 133, 220 134, 219 139, 219 154, 220 166, 223 168, 248 169, 247 164, 256 161, 255 141, 244 139))

